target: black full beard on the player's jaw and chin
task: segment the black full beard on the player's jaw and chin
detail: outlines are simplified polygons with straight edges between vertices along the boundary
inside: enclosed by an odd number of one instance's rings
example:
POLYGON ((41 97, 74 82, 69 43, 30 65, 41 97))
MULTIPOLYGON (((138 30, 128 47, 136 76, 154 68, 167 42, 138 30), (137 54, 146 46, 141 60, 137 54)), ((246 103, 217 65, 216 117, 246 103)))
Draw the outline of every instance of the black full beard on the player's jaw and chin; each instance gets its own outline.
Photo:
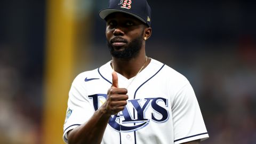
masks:
POLYGON ((114 58, 131 59, 135 58, 139 54, 142 46, 142 41, 142 36, 133 39, 128 45, 124 47, 123 51, 115 51, 115 49, 109 42, 107 42, 107 45, 111 55, 114 58))

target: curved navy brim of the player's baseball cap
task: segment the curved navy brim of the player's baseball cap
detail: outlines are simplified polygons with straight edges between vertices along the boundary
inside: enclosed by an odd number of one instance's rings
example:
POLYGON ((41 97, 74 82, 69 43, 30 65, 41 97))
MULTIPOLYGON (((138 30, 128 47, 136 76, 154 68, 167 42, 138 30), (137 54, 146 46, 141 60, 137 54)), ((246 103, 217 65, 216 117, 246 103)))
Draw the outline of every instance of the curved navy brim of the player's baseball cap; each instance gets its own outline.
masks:
POLYGON ((101 19, 105 19, 109 14, 114 13, 114 12, 123 12, 123 13, 130 14, 130 15, 132 15, 133 17, 135 17, 135 18, 137 18, 137 19, 139 19, 139 20, 141 20, 142 22, 144 22, 144 23, 147 24, 147 22, 146 22, 144 19, 142 19, 141 17, 139 17, 138 15, 133 14, 133 13, 131 13, 131 12, 123 11, 123 10, 117 10, 117 9, 103 9, 103 10, 101 10, 101 11, 99 12, 99 15, 100 15, 100 18, 101 18, 101 19))

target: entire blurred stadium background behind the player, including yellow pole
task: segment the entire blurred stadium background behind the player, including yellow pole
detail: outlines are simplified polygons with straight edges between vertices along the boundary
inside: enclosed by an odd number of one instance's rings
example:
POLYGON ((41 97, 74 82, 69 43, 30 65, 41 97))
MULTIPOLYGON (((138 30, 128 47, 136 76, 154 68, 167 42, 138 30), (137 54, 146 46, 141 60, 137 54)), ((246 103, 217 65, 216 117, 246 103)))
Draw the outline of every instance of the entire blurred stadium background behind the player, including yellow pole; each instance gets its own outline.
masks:
MULTIPOLYGON (((185 75, 210 138, 256 143, 255 1, 154 1, 148 57, 185 75)), ((111 59, 108 1, 0 2, 0 143, 64 143, 76 75, 111 59)))

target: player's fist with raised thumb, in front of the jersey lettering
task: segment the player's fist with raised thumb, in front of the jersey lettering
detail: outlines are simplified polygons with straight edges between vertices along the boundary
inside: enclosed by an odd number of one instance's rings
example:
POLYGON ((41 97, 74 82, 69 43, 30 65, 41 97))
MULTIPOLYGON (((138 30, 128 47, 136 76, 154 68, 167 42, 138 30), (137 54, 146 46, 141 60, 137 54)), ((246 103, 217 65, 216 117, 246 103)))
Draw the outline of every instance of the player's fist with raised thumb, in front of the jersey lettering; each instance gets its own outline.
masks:
POLYGON ((124 110, 127 105, 127 89, 118 87, 118 77, 117 73, 113 71, 112 73, 112 85, 108 89, 108 97, 106 102, 102 105, 105 109, 107 115, 116 115, 119 111, 124 110))

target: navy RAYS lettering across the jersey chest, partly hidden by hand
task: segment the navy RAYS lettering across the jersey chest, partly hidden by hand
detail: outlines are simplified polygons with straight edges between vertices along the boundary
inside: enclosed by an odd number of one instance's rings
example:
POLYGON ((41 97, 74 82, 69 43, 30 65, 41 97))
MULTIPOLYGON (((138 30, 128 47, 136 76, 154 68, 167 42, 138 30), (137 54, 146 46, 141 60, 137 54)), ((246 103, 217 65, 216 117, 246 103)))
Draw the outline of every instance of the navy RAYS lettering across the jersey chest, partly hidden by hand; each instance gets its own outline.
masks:
MULTIPOLYGON (((98 110, 103 101, 106 101, 107 94, 93 94, 88 97, 92 100, 94 109, 98 110)), ((150 121, 164 123, 169 119, 168 100, 165 98, 132 99, 127 102, 123 111, 109 119, 108 124, 116 131, 137 131, 147 126, 150 121)))

